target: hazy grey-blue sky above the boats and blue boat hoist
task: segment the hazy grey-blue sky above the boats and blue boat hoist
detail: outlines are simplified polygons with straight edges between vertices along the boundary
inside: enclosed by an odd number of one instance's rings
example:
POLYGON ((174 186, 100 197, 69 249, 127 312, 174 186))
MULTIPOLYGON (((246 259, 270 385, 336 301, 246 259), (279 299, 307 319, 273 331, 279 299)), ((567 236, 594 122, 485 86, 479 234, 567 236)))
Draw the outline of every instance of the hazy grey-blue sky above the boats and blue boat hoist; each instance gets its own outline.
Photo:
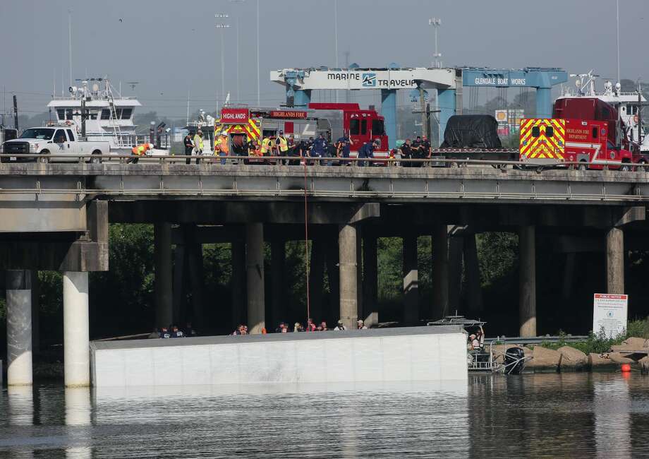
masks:
MULTIPOLYGON (((271 69, 334 66, 334 0, 259 3, 261 100, 278 105, 284 90, 269 81, 271 69)), ((68 87, 68 10, 73 78, 109 76, 115 86, 122 82, 123 95, 138 95, 140 110, 178 118, 185 116, 188 90, 192 111, 214 109, 221 91, 214 13, 229 13, 226 93, 236 98, 238 18, 241 102, 256 103, 257 0, 0 0, 0 91, 7 104, 17 93, 25 114, 45 111, 54 80, 61 93, 61 73, 68 87), (127 81, 140 83, 132 92, 127 81)), ((429 66, 431 16, 442 18, 445 66, 593 68, 611 78, 617 72, 614 0, 339 0, 339 64, 349 52, 349 62, 360 66, 429 66)), ((648 0, 620 0, 622 78, 649 81, 641 42, 648 24, 648 0)), ((375 91, 356 95, 362 105, 375 102, 375 91)))

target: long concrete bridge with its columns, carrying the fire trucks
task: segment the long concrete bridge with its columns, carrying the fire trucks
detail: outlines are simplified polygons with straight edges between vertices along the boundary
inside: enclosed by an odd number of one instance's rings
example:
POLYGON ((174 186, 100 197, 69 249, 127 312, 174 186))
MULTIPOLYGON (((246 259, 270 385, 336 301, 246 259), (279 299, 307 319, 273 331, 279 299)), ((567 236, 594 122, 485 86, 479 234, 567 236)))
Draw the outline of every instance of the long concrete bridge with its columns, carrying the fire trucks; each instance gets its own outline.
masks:
MULTIPOLYGON (((109 269, 109 222, 155 228, 157 323, 178 318, 183 268, 193 273, 198 304, 200 244, 231 242, 233 320, 253 333, 284 317, 284 297, 264 289, 264 241, 273 285, 284 277, 285 243, 313 240, 312 315, 321 312, 324 268, 347 326, 376 315, 377 238, 404 239, 403 323, 454 309, 462 273, 471 308, 480 309, 475 234, 519 235, 520 333, 536 334, 535 238, 557 234, 564 250, 596 244, 606 253, 607 285, 624 292, 624 234, 643 243, 649 174, 516 170, 281 165, 3 164, 0 165, 0 268, 7 271, 8 383, 30 384, 31 279, 63 271, 66 386, 90 383, 89 271, 109 269), (306 191, 305 191, 306 189, 306 191), (172 226, 173 225, 173 226, 172 226), (432 236, 432 304, 418 304, 417 237, 432 236), (172 245, 176 250, 172 251, 172 245), (581 244, 581 245, 580 245, 581 244), (174 257, 175 262, 174 262, 174 257), (175 268, 174 268, 175 267, 175 268), (245 281, 244 281, 245 280, 245 281)), ((627 244, 628 245, 628 244, 627 244)), ((200 321, 202 310, 194 311, 200 321)))

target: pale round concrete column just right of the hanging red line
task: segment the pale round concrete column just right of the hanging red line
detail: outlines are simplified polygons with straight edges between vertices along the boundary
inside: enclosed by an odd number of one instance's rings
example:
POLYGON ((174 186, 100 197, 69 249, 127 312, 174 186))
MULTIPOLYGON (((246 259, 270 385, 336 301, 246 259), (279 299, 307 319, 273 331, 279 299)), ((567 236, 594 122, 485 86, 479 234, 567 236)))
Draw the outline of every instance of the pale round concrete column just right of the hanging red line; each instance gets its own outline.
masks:
POLYGON ((353 329, 358 320, 356 227, 341 225, 338 232, 340 273, 340 320, 353 329))

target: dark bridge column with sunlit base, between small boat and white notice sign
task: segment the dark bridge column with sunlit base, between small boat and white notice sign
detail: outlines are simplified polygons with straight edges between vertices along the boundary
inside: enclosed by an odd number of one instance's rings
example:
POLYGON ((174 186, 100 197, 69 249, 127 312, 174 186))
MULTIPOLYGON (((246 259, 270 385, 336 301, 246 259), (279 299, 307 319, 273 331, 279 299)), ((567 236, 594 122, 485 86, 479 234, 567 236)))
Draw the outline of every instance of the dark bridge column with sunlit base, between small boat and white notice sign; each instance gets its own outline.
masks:
POLYGON ((519 287, 518 315, 521 323, 519 335, 536 336, 536 251, 535 227, 523 226, 518 230, 519 287))

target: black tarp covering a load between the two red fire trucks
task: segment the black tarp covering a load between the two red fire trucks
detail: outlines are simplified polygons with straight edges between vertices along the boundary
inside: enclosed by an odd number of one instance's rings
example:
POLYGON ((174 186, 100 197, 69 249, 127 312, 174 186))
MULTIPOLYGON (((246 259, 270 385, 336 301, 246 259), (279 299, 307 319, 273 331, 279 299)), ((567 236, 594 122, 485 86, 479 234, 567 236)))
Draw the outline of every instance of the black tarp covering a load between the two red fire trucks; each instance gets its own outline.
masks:
POLYGON ((498 121, 491 115, 454 115, 439 148, 502 148, 497 128, 498 121))

